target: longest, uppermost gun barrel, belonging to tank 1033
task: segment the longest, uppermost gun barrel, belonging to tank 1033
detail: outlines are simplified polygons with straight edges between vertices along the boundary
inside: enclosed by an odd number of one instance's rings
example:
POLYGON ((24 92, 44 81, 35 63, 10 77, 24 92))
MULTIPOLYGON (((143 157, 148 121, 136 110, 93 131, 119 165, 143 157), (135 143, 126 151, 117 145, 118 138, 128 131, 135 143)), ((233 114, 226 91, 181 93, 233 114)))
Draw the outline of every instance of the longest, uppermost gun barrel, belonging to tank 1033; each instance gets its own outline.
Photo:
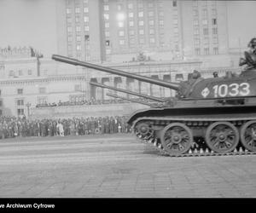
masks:
POLYGON ((119 75, 119 76, 126 77, 126 78, 136 79, 136 80, 142 81, 142 82, 153 83, 153 84, 156 84, 156 85, 159 85, 159 86, 162 86, 162 87, 166 87, 166 88, 169 88, 169 89, 179 90, 179 84, 178 83, 172 83, 172 82, 162 81, 162 80, 159 80, 159 79, 148 78, 148 77, 145 77, 145 76, 137 75, 135 73, 124 72, 124 71, 113 69, 113 68, 110 68, 110 67, 107 67, 107 66, 99 66, 99 65, 87 63, 87 62, 84 62, 84 61, 68 58, 68 57, 62 56, 62 55, 52 55, 52 59, 57 60, 57 61, 61 61, 61 62, 67 63, 67 64, 71 64, 71 65, 74 65, 74 66, 84 66, 84 67, 88 67, 88 68, 91 68, 91 69, 96 69, 98 71, 108 72, 108 73, 111 73, 111 74, 114 74, 114 75, 119 75))

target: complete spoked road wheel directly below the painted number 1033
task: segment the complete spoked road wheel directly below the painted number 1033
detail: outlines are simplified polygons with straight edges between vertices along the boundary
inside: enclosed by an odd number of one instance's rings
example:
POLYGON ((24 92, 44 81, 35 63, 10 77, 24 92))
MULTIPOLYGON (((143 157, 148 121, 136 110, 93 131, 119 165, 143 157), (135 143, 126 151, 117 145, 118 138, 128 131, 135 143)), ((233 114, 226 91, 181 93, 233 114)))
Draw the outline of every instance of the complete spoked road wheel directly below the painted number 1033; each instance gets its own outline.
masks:
POLYGON ((239 142, 239 133, 229 122, 215 122, 207 129, 206 142, 216 153, 230 153, 239 142))

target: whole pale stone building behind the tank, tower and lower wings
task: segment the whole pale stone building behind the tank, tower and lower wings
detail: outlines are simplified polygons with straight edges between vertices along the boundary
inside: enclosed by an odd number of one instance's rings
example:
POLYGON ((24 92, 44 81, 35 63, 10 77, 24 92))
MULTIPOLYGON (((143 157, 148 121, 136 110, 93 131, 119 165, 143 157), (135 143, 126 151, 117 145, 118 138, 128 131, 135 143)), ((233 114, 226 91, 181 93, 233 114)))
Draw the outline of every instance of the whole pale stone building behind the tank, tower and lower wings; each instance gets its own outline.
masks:
MULTIPOLYGON (((225 1, 58 0, 57 54, 172 82, 187 80, 193 70, 205 78, 214 71, 220 76, 239 72, 241 55, 229 49, 226 10, 225 1)), ((0 49, 3 115, 29 115, 30 108, 45 102, 110 99, 107 89, 90 86, 90 81, 146 95, 175 95, 171 89, 32 51, 0 49)))

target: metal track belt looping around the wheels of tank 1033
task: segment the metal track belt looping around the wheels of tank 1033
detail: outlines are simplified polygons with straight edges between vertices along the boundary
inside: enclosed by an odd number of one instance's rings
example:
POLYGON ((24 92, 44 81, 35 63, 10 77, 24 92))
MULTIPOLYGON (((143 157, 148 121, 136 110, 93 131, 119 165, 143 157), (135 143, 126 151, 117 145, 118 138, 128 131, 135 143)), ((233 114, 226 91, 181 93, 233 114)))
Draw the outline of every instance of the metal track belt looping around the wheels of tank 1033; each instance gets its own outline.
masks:
MULTIPOLYGON (((209 122, 214 121, 230 121, 232 124, 241 125, 245 123, 248 120, 252 120, 256 118, 204 118, 203 120, 201 118, 138 118, 134 125, 132 125, 132 129, 134 130, 134 126, 142 120, 150 120, 149 122, 155 121, 157 124, 170 124, 172 121, 180 121, 183 124, 189 124, 188 126, 194 126, 194 127, 201 127, 204 125, 208 125, 209 122), (193 124, 194 123, 194 124, 193 124), (197 125, 196 125, 197 124, 197 125), (198 125, 200 124, 200 125, 198 125)), ((230 153, 215 153, 211 151, 208 147, 200 147, 198 144, 194 143, 194 147, 191 147, 187 153, 181 153, 181 154, 171 154, 168 153, 164 147, 161 145, 160 139, 156 137, 151 137, 148 139, 143 139, 143 137, 137 136, 137 140, 140 142, 143 142, 147 146, 153 148, 155 151, 158 151, 161 155, 169 156, 169 157, 204 157, 204 156, 232 156, 232 155, 254 155, 256 152, 248 151, 245 147, 242 147, 241 144, 239 144, 236 149, 233 152, 230 153)))

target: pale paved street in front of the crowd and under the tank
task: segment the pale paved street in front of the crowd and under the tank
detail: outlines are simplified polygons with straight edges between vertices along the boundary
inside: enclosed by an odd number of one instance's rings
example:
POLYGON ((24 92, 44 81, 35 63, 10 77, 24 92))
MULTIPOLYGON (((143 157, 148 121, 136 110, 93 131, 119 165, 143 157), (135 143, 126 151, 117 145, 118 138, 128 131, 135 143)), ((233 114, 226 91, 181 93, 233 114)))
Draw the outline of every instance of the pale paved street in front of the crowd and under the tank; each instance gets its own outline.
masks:
POLYGON ((256 156, 170 158, 132 135, 0 141, 1 198, 255 198, 256 156))

